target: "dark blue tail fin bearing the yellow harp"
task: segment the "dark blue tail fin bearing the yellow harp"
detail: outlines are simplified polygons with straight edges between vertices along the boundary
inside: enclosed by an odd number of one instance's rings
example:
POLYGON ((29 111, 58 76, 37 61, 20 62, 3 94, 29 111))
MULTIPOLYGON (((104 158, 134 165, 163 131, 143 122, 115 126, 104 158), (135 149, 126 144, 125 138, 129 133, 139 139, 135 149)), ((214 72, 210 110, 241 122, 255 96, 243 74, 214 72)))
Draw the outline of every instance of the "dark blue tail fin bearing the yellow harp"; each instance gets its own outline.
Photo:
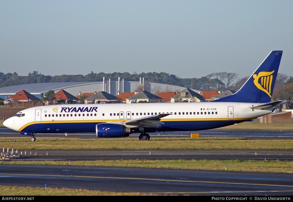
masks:
POLYGON ((282 53, 282 50, 270 52, 240 90, 233 95, 214 100, 213 102, 270 102, 282 53))

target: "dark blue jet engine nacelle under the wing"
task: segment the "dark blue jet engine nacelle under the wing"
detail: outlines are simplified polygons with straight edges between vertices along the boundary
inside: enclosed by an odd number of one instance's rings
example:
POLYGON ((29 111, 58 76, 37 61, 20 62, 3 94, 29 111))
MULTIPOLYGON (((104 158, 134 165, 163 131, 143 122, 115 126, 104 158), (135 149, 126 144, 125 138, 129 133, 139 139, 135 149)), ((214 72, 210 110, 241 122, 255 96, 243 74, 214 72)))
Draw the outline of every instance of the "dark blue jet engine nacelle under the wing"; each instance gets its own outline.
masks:
POLYGON ((126 127, 121 124, 100 123, 96 125, 97 137, 128 137, 126 127))

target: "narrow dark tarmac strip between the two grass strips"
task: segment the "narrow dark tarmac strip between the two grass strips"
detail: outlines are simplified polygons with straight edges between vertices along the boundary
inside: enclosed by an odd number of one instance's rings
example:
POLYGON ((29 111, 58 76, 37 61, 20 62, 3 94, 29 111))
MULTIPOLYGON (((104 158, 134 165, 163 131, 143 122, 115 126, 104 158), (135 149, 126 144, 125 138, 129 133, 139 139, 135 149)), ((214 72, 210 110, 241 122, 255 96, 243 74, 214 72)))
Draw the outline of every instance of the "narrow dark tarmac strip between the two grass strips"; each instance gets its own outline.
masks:
POLYGON ((18 150, 20 158, 11 161, 94 161, 94 160, 255 160, 293 161, 292 150, 18 150))

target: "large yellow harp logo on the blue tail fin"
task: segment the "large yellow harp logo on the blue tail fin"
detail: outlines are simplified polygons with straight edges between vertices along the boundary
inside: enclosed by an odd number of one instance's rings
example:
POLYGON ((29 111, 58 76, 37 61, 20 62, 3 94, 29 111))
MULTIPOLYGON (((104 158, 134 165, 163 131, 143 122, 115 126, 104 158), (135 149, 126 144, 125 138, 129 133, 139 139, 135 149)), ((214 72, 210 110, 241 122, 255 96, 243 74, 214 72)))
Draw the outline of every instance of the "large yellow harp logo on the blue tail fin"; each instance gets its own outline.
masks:
POLYGON ((273 74, 272 72, 260 72, 258 75, 253 75, 253 83, 254 85, 263 92, 267 93, 268 96, 271 96, 271 88, 272 88, 272 80, 273 80, 273 74))

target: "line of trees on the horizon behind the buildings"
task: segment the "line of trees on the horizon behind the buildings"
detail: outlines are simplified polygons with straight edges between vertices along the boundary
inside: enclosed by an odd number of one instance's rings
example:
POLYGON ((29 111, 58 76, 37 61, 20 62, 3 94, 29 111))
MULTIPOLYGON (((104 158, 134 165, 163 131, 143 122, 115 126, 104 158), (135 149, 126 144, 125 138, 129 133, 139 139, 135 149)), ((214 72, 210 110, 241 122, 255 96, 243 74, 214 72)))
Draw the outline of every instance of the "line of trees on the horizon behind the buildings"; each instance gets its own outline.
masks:
MULTIPOLYGON (((125 81, 139 81, 140 78, 144 78, 145 83, 163 83, 168 85, 176 85, 181 87, 186 87, 190 89, 206 91, 206 90, 239 90, 240 87, 246 82, 247 77, 240 78, 236 73, 229 72, 216 72, 208 74, 201 78, 179 78, 176 75, 161 72, 149 72, 133 74, 123 72, 123 73, 88 73, 87 75, 43 75, 38 73, 38 71, 33 71, 33 73, 28 73, 27 76, 20 76, 16 72, 14 73, 3 73, 0 72, 0 87, 30 84, 30 83, 56 83, 56 82, 83 82, 83 81, 103 81, 108 80, 120 80, 125 81)), ((292 108, 292 97, 293 97, 293 78, 285 74, 278 73, 275 90, 272 96, 272 100, 288 100, 288 107, 292 108)))

